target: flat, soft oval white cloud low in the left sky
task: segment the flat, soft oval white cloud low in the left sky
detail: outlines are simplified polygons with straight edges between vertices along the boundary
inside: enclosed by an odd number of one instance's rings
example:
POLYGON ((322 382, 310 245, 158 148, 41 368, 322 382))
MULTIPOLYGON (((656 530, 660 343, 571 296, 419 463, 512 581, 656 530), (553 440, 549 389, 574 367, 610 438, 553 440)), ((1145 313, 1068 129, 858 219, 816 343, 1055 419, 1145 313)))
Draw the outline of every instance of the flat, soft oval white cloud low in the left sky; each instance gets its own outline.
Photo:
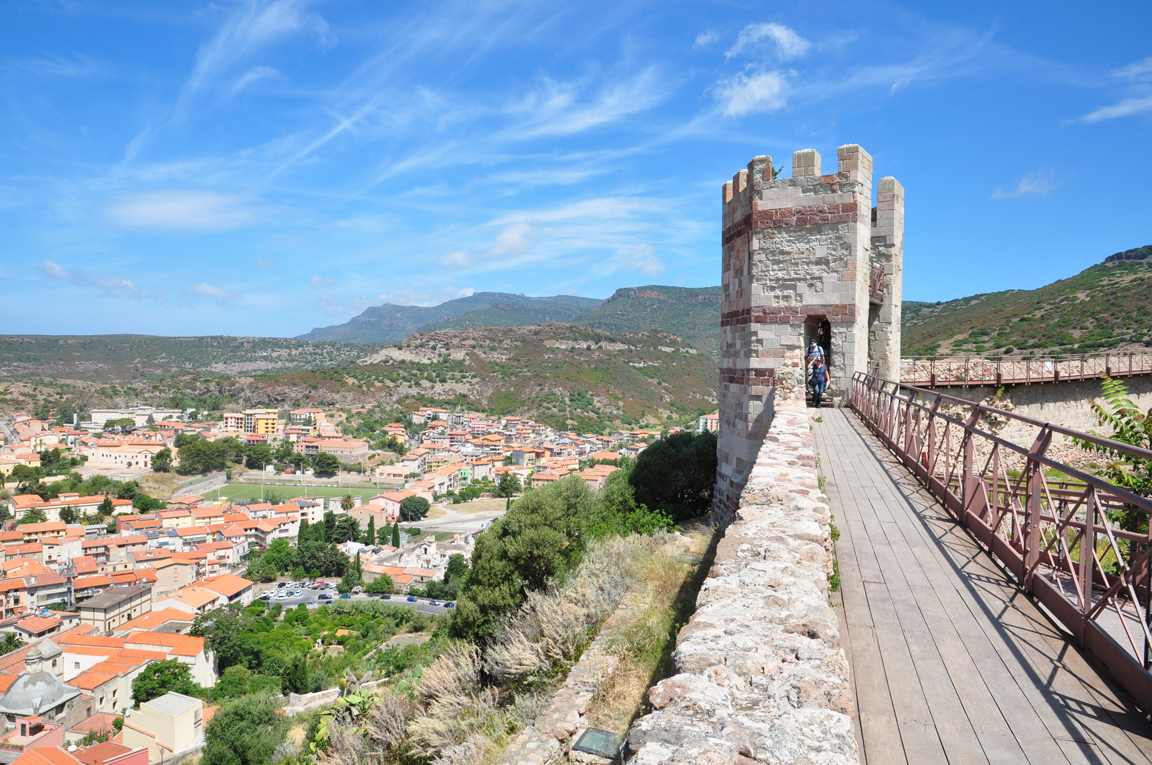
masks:
POLYGON ((259 219, 248 199, 217 191, 136 191, 118 197, 106 213, 123 228, 176 232, 232 230, 259 219))

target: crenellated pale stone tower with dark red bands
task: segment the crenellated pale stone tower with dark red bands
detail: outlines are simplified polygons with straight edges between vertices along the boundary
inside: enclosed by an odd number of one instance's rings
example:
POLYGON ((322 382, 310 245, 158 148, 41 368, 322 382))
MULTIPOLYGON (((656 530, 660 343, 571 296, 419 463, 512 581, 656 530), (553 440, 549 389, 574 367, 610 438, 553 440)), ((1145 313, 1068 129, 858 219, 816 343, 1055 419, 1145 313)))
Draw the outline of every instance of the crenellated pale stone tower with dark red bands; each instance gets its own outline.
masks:
POLYGON ((872 158, 836 150, 835 174, 820 154, 793 154, 791 177, 772 177, 756 157, 723 184, 720 440, 715 520, 726 524, 772 424, 778 384, 803 379, 804 348, 828 358, 826 399, 846 403, 852 374, 900 374, 904 189, 877 184, 872 158), (787 372, 786 372, 787 370, 787 372))

